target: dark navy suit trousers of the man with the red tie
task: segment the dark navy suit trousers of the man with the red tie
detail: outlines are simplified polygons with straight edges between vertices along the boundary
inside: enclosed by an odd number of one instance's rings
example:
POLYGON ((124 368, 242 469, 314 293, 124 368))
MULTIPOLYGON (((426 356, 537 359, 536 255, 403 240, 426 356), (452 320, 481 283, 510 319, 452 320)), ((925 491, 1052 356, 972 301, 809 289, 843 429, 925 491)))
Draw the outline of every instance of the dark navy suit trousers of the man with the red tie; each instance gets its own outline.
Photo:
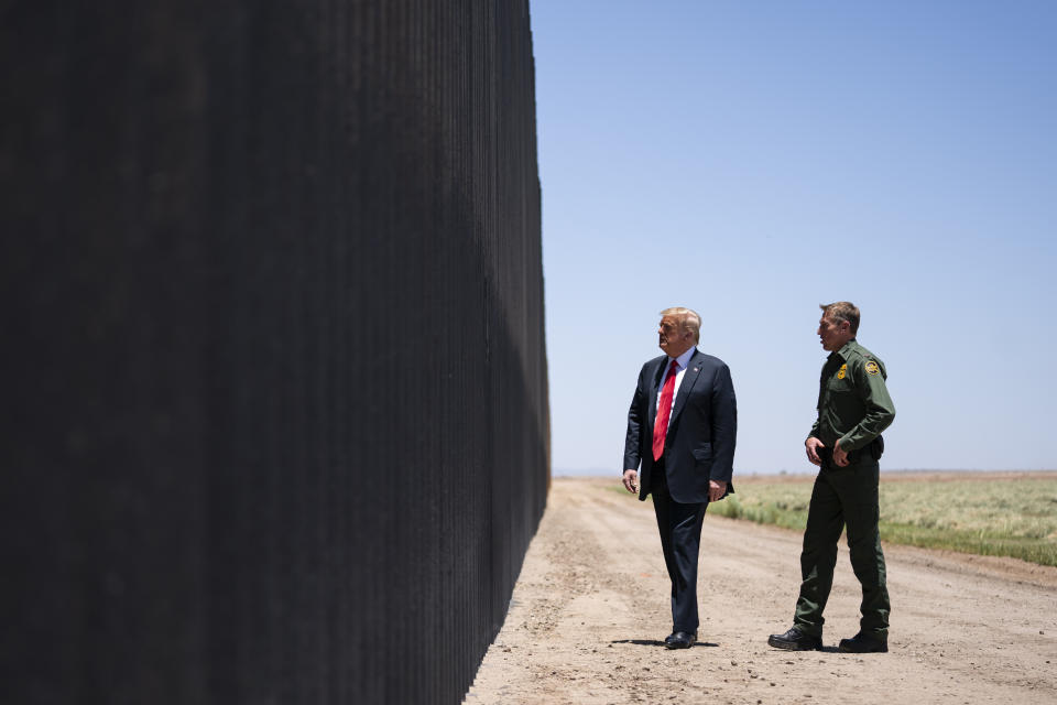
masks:
POLYGON ((697 617, 697 556, 701 545, 701 522, 708 502, 684 505, 672 499, 658 468, 651 480, 653 510, 657 516, 664 564, 672 581, 672 631, 695 632, 697 617))

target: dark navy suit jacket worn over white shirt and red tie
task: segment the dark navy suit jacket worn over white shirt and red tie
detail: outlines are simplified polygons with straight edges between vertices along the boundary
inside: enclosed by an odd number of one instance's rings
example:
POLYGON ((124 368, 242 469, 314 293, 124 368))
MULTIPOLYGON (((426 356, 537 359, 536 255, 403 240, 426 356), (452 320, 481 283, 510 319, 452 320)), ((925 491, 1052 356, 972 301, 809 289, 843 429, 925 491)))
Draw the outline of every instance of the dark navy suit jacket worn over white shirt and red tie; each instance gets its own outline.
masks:
MULTIPOLYGON (((653 422, 657 415, 657 387, 669 362, 667 355, 642 366, 639 384, 628 411, 624 469, 642 469, 639 499, 650 494, 653 460, 653 422)), ((723 480, 727 491, 734 463, 738 406, 730 369, 719 358, 694 350, 679 393, 672 404, 664 463, 672 499, 677 502, 708 501, 708 480, 723 480)))

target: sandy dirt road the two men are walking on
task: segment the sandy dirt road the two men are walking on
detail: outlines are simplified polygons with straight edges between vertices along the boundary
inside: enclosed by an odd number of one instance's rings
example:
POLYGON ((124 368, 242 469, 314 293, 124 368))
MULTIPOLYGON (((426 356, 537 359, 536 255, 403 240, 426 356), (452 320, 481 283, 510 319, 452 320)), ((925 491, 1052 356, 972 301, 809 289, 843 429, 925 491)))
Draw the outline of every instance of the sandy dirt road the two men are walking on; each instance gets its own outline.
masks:
POLYGON ((705 518, 689 650, 668 651, 651 502, 559 478, 466 703, 1057 703, 1057 568, 886 545, 886 654, 839 653, 859 586, 841 546, 825 651, 767 647, 792 621, 795 532, 705 518))

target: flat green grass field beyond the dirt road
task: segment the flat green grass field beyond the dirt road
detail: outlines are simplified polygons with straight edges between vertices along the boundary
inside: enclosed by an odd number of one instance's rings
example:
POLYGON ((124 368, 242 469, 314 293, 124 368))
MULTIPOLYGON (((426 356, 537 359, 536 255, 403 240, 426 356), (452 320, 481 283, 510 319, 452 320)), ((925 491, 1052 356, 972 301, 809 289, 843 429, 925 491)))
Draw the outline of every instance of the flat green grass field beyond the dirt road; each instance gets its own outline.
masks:
MULTIPOLYGON (((734 478, 708 510, 803 531, 814 479, 734 478)), ((1057 473, 882 473, 881 539, 1057 566, 1057 473)))

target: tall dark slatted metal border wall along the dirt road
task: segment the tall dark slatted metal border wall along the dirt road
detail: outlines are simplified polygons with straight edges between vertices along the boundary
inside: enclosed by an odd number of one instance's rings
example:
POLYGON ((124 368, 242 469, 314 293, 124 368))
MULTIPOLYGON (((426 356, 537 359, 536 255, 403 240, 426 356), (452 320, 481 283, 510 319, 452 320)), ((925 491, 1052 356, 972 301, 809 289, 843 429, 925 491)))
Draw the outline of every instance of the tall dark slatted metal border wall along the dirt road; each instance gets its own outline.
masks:
POLYGON ((453 703, 548 485, 527 1, 0 8, 6 703, 453 703))

